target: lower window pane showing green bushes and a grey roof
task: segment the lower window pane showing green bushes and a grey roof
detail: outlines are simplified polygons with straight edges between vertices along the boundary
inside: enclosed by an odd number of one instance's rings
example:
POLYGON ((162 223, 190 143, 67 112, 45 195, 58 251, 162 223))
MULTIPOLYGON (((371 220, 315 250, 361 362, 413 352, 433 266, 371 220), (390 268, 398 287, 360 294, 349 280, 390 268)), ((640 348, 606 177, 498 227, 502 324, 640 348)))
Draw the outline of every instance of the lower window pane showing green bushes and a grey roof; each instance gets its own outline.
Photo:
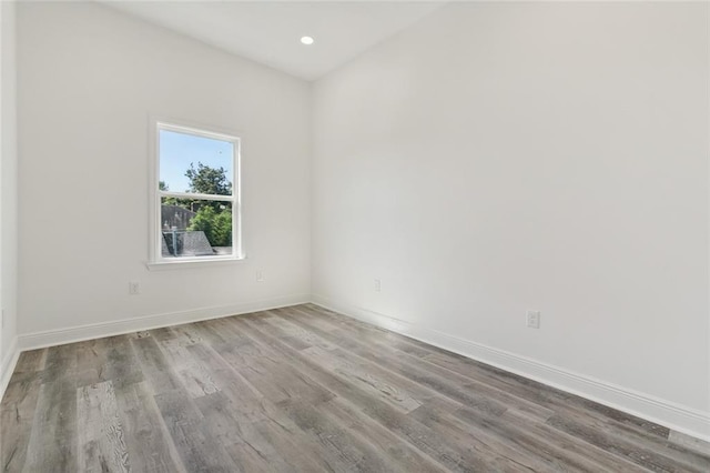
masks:
POLYGON ((232 202, 161 199, 163 258, 232 254, 232 202))

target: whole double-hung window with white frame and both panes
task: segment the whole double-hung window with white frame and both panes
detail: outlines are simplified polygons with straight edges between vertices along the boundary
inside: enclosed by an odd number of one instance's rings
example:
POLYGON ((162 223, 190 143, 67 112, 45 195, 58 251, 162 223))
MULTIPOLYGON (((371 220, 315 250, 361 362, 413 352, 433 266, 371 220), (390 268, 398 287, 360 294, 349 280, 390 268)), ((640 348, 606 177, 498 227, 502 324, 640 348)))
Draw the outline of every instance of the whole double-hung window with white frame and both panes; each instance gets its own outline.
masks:
POLYGON ((156 122, 151 261, 242 258, 240 139, 156 122))

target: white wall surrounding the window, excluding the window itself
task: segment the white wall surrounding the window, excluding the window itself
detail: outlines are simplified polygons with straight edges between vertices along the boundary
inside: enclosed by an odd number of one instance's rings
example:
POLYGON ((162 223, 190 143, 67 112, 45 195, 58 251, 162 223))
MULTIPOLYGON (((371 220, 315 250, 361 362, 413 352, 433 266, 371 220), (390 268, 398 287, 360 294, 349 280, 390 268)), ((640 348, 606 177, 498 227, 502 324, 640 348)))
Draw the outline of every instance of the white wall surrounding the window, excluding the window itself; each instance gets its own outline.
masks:
POLYGON ((18 67, 23 345, 307 299, 308 83, 91 3, 18 6, 18 67), (240 133, 245 261, 146 269, 149 114, 240 133))

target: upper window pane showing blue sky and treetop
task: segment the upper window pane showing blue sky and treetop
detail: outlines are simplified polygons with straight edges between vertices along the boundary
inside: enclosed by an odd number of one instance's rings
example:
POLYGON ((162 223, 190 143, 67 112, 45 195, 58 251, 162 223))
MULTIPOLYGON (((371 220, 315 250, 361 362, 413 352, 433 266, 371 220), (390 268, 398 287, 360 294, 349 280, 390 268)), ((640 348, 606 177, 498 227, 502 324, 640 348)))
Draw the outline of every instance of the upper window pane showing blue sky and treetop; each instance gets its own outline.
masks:
POLYGON ((159 130, 160 190, 232 195, 234 143, 159 130))

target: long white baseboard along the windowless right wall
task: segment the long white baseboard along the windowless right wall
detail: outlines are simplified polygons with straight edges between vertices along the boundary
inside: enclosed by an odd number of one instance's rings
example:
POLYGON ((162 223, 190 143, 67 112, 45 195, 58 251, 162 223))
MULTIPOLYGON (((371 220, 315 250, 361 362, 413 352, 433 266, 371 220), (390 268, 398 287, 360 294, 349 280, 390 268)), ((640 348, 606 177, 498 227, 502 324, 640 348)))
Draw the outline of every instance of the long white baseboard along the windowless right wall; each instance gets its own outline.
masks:
POLYGON ((577 394, 673 431, 710 441, 710 413, 618 386, 504 350, 463 340, 410 322, 316 295, 313 303, 363 322, 490 364, 524 378, 577 394))

